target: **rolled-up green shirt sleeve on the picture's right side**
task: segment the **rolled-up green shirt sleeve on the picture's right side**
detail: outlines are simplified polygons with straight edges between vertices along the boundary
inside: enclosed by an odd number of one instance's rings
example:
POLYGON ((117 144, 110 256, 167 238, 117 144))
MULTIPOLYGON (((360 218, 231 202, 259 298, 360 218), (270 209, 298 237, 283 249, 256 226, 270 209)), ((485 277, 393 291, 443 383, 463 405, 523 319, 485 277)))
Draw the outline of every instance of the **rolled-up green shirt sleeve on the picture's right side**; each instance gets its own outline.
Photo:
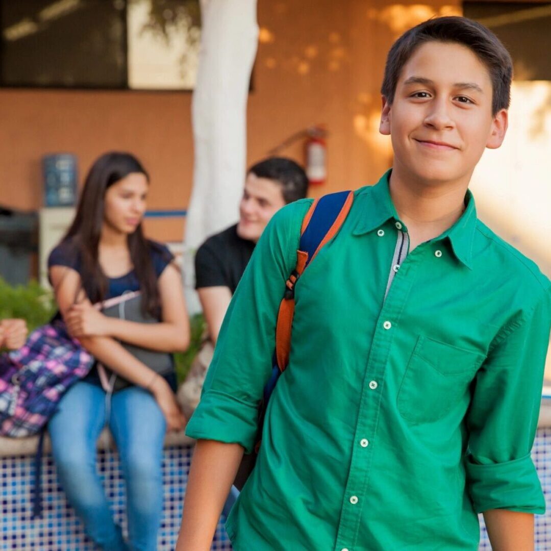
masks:
POLYGON ((530 451, 536 435, 551 325, 551 289, 496 337, 474 381, 466 473, 474 510, 543 514, 530 451))

